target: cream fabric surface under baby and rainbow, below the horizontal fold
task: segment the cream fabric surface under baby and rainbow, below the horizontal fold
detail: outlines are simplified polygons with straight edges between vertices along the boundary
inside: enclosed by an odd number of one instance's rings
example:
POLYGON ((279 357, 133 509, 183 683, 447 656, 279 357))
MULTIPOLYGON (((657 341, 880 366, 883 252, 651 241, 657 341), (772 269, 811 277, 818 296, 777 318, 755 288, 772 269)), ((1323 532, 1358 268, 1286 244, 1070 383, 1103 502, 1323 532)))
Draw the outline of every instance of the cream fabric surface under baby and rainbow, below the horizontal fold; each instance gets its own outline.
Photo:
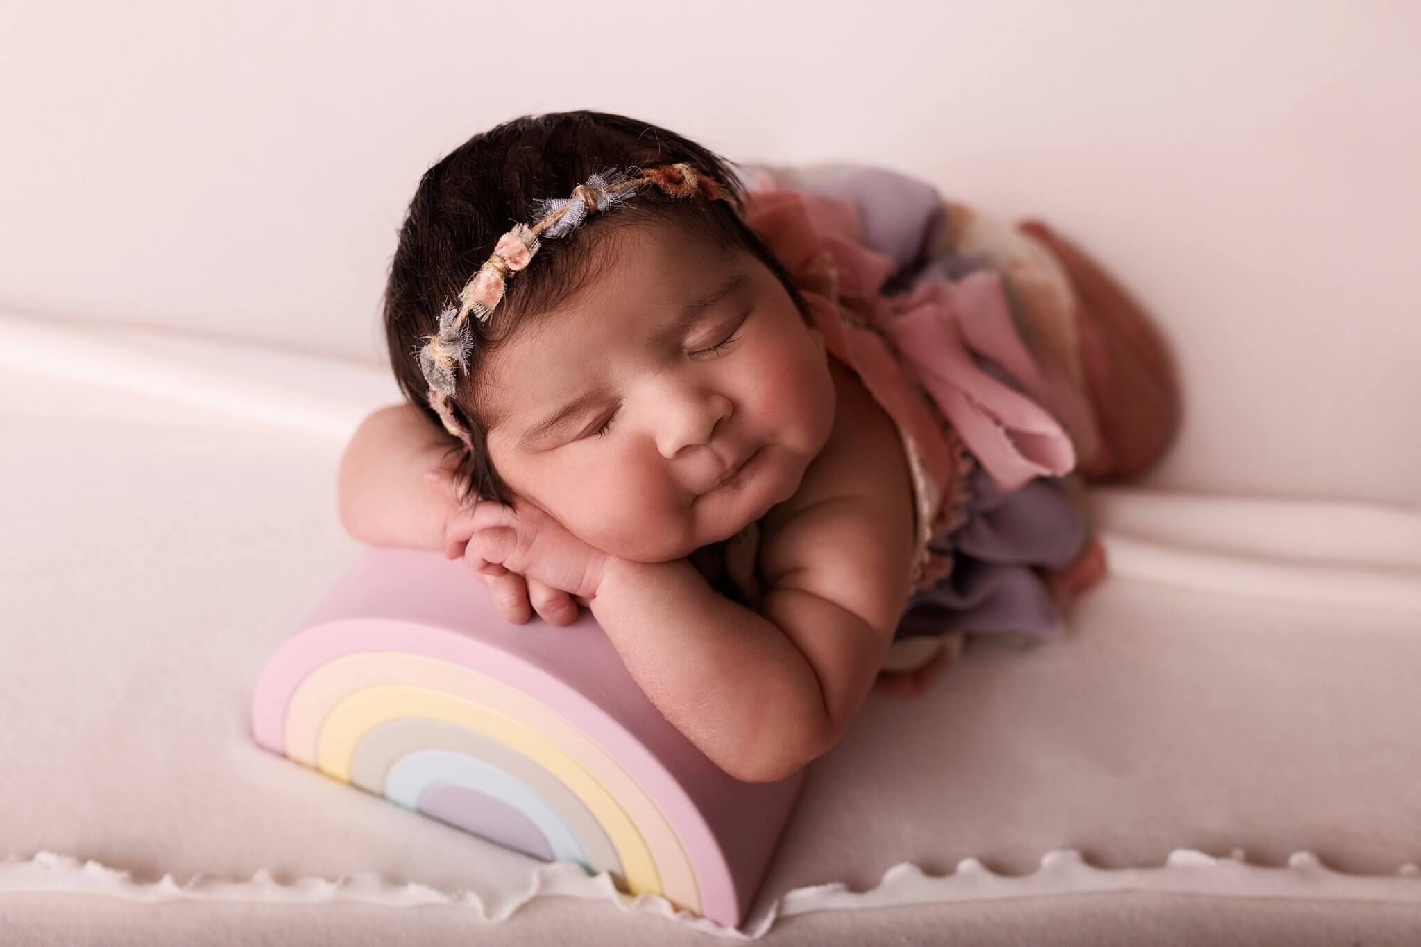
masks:
POLYGON ((358 549, 335 464, 392 398, 331 359, 0 318, 0 924, 20 943, 82 943, 82 917, 223 943, 193 919, 271 899, 306 906, 287 929, 242 914, 249 933, 345 943, 980 943, 1007 914, 1022 943, 1108 943, 1117 912, 1174 936, 1421 933, 1405 507, 1097 490, 1114 575, 1070 637, 972 646, 926 696, 871 697, 739 934, 267 754, 252 686, 358 549), (175 899, 180 920, 136 910, 175 899))

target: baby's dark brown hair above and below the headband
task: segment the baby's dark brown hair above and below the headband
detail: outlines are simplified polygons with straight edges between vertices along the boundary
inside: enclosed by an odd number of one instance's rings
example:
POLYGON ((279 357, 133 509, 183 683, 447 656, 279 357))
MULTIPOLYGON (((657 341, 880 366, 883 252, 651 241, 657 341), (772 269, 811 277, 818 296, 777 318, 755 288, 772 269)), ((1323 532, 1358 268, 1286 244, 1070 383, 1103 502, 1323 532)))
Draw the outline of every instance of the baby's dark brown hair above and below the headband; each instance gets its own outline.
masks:
POLYGON ((577 292, 614 244, 607 237, 617 229, 665 219, 712 246, 743 247, 774 273, 801 312, 806 307, 784 266, 742 220, 745 186, 730 163, 648 122, 588 111, 526 115, 475 135, 419 179, 385 285, 385 341, 399 389, 442 432, 426 402, 429 386, 419 351, 428 336, 438 335, 439 312, 458 305, 459 291, 499 237, 514 223, 533 223, 537 199, 567 197, 594 173, 674 162, 712 177, 723 200, 672 200, 645 187, 628 204, 591 214, 571 234, 543 240, 529 268, 509 281, 489 322, 469 319, 473 351, 450 399, 450 410, 473 444, 470 454, 450 437, 450 450, 462 454, 455 478, 463 487, 463 501, 477 496, 507 503, 512 497, 487 451, 477 398, 485 356, 577 292))

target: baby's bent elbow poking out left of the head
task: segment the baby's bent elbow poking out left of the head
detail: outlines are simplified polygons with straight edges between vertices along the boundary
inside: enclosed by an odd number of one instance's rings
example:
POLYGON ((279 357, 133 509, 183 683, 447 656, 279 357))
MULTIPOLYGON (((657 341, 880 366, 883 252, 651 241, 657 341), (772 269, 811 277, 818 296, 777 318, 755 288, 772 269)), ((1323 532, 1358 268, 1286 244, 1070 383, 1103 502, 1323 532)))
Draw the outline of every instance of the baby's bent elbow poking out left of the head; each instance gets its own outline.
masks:
POLYGON ((453 467, 452 440, 414 405, 382 407, 361 422, 341 457, 341 525, 371 545, 443 549, 452 493, 431 490, 431 467, 453 467))

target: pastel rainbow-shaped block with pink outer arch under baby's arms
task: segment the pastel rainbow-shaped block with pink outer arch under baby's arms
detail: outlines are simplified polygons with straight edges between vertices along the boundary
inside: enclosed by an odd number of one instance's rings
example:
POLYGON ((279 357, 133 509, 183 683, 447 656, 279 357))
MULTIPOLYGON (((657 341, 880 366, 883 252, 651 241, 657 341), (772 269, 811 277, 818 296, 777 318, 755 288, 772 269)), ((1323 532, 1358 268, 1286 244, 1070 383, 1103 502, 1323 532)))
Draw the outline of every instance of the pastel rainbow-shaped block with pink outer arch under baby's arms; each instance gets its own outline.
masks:
POLYGON ((335 779, 729 926, 804 778, 730 778, 588 612, 512 625, 462 561, 425 549, 362 552, 267 662, 252 727, 335 779))

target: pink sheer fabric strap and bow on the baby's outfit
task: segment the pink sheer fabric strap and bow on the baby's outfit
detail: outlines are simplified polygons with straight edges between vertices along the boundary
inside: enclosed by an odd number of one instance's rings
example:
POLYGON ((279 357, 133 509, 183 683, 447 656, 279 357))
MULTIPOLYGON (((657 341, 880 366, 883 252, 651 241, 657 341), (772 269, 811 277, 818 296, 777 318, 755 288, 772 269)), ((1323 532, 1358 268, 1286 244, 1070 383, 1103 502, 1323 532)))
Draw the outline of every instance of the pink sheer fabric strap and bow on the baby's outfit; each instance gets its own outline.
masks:
POLYGON ((1022 342, 1000 274, 926 278, 905 294, 884 295, 897 264, 864 246, 851 203, 766 187, 746 193, 746 223, 800 283, 828 351, 912 434, 938 483, 951 481, 953 460, 924 390, 1000 490, 1076 467, 1057 417, 1088 416, 1090 409, 1063 379, 1043 372, 1022 342), (983 372, 971 352, 1000 365, 1026 393, 983 372))

